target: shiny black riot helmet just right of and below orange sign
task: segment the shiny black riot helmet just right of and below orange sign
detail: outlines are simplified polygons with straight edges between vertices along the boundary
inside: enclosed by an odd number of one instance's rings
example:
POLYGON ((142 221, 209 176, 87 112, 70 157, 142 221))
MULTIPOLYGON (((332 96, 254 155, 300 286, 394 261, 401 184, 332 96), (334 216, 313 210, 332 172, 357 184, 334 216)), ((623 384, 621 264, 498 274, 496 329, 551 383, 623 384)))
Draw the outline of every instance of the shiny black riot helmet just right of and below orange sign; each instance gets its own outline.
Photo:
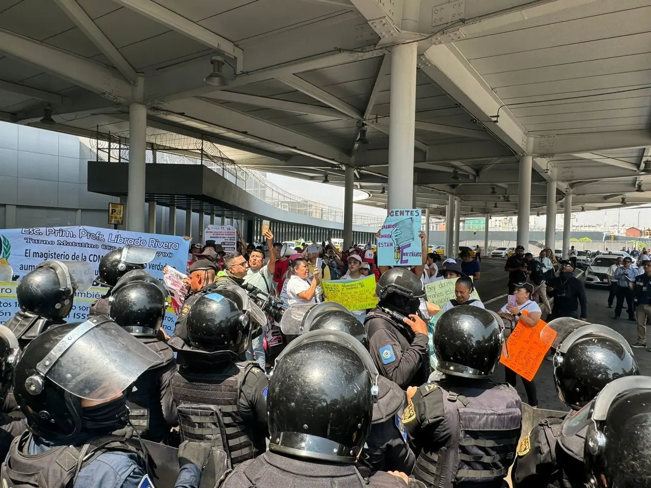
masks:
POLYGON ((611 381, 639 375, 633 352, 610 327, 587 324, 570 333, 554 355, 554 383, 561 400, 579 410, 611 381))

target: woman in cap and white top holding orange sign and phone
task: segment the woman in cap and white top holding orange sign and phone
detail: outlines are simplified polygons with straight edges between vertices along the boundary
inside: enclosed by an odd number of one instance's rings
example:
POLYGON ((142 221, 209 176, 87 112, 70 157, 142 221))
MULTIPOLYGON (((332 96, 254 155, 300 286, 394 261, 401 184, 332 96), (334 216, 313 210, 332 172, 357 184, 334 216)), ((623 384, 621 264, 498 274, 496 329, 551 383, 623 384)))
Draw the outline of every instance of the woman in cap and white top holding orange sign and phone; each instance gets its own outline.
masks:
MULTIPOLYGON (((508 303, 499 311, 499 316, 505 321, 504 325, 507 337, 516 328, 518 323, 521 323, 525 327, 535 327, 542 315, 540 306, 531 299, 533 284, 517 283, 514 286, 516 288, 514 294, 508 296, 508 303), (522 313, 524 310, 527 310, 527 315, 522 313)), ((517 378, 518 375, 516 372, 505 368, 506 383, 515 388, 517 378)), ((523 385, 525 385, 529 405, 532 407, 538 406, 538 395, 536 394, 536 385, 533 380, 527 381, 523 377, 520 377, 520 379, 523 385)))

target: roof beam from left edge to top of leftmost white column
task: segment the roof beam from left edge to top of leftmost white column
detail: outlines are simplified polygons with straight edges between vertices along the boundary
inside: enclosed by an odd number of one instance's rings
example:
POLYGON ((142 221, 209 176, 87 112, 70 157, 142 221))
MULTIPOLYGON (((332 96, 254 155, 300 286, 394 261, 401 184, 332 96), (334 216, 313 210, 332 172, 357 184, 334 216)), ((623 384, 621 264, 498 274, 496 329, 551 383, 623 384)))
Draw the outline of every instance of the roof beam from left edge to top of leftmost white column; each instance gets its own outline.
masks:
POLYGON ((0 51, 112 100, 131 100, 133 85, 100 62, 0 29, 0 51))

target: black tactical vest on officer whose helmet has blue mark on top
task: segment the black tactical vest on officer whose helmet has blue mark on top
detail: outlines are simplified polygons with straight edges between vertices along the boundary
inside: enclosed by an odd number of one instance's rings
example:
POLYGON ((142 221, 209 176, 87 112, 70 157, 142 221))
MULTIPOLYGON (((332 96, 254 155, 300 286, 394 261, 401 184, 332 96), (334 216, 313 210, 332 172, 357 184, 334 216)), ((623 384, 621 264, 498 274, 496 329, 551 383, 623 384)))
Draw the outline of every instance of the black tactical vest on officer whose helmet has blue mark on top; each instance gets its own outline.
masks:
POLYGON ((238 406, 242 383, 252 368, 261 370, 255 361, 244 361, 219 373, 183 368, 174 374, 181 441, 210 442, 227 452, 232 466, 264 451, 264 435, 245 424, 238 406))

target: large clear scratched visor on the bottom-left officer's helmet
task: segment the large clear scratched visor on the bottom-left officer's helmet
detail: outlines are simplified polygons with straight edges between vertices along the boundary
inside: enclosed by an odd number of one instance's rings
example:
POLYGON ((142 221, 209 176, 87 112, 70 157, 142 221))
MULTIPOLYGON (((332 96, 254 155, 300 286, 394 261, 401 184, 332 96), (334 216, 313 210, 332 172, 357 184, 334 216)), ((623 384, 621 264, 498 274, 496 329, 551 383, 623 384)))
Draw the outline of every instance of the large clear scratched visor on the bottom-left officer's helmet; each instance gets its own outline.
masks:
POLYGON ((109 400, 161 357, 105 316, 77 325, 36 366, 70 394, 109 400))

